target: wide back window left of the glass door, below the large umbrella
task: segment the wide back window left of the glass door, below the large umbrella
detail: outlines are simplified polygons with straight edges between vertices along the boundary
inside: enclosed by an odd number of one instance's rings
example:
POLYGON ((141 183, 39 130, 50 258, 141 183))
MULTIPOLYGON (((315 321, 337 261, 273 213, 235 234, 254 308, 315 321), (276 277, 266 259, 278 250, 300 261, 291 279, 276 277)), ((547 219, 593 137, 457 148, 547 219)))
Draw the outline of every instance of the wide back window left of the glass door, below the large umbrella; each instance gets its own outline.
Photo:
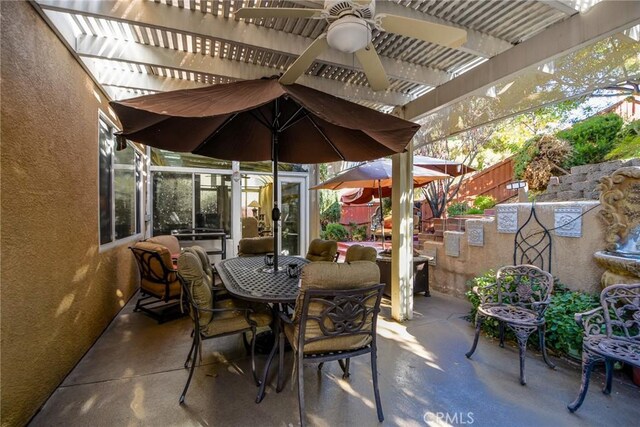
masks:
POLYGON ((231 175, 153 173, 153 235, 187 228, 231 233, 231 175))

